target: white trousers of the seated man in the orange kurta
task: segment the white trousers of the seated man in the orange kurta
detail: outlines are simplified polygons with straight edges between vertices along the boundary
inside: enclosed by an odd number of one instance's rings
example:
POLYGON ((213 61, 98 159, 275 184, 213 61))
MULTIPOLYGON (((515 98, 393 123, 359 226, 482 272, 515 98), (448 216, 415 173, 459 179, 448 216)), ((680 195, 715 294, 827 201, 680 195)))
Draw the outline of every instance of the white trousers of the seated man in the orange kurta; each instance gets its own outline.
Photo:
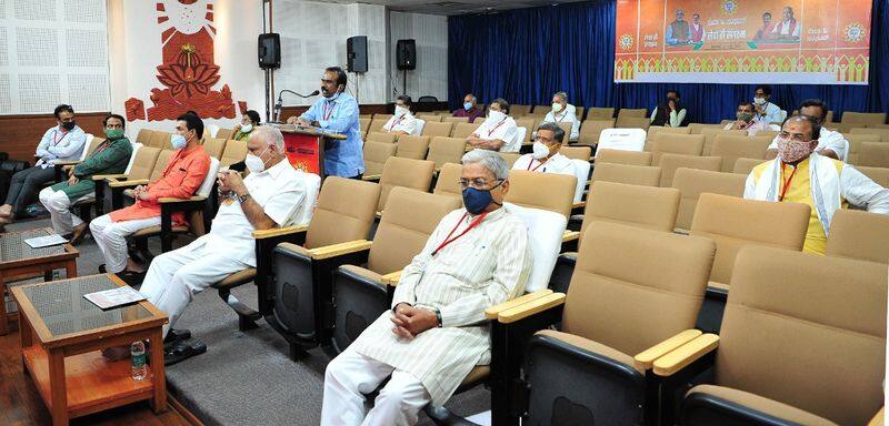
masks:
POLYGON ((146 227, 160 225, 160 216, 114 222, 106 214, 90 222, 96 244, 104 256, 104 267, 117 274, 127 268, 127 236, 146 227))

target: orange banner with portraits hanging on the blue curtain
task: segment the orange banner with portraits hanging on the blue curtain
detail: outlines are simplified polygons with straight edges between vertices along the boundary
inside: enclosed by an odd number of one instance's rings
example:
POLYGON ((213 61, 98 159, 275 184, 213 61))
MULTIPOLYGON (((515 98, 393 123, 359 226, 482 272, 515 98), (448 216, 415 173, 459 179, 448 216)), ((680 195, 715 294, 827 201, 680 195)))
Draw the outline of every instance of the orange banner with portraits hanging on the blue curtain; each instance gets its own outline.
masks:
POLYGON ((871 0, 618 0, 616 82, 867 84, 871 0))

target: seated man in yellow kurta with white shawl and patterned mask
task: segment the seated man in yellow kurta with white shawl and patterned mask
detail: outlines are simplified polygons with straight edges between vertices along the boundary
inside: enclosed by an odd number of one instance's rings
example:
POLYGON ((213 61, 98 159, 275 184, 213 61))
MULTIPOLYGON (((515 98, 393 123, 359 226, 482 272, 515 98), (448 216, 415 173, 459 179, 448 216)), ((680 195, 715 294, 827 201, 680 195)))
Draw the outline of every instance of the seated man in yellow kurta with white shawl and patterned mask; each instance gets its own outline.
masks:
POLYGON ((811 217, 802 251, 825 254, 833 213, 851 203, 872 213, 889 214, 889 190, 851 165, 816 153, 818 141, 812 135, 820 130, 818 119, 787 119, 778 140, 778 158, 750 172, 743 197, 808 204, 811 217))

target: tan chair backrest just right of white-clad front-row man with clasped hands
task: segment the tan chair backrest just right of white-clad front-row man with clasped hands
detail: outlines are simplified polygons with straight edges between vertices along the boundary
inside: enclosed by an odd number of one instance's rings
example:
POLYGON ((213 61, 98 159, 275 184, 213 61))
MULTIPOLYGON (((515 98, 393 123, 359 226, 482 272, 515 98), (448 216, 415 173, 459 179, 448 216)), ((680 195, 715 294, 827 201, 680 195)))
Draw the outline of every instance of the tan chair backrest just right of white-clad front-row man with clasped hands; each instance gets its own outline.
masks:
POLYGON ((306 247, 367 239, 379 199, 380 185, 376 183, 328 176, 309 222, 306 247))

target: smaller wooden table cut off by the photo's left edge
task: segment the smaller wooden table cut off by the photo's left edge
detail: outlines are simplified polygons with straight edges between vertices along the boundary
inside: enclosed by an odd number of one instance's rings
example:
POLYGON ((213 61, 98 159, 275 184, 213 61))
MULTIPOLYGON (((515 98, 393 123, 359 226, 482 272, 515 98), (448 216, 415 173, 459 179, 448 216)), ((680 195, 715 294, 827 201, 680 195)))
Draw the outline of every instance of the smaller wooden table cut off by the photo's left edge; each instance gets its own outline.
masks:
MULTIPOLYGON (((52 280, 53 270, 66 270, 67 277, 77 276, 77 257, 80 253, 71 244, 31 248, 24 240, 54 234, 51 227, 7 232, 0 234, 0 297, 4 297, 7 283, 43 273, 44 281, 52 280)), ((0 303, 0 336, 9 333, 6 300, 0 303)))

